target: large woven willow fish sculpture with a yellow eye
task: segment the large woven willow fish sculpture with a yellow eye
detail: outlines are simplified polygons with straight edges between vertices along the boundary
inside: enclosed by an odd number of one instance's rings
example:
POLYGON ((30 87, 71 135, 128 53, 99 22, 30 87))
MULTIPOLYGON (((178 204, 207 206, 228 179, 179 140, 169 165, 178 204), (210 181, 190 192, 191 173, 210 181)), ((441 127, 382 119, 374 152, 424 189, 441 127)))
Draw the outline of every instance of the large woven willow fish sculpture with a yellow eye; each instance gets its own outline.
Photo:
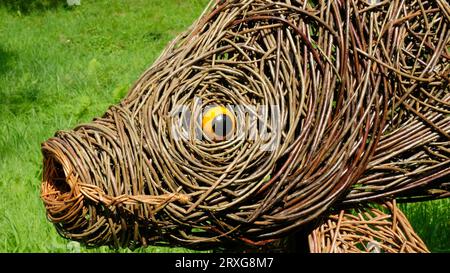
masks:
POLYGON ((427 251, 392 200, 450 196, 449 24, 447 1, 213 1, 118 105, 42 144, 47 216, 90 246, 309 227, 313 252, 427 251))

